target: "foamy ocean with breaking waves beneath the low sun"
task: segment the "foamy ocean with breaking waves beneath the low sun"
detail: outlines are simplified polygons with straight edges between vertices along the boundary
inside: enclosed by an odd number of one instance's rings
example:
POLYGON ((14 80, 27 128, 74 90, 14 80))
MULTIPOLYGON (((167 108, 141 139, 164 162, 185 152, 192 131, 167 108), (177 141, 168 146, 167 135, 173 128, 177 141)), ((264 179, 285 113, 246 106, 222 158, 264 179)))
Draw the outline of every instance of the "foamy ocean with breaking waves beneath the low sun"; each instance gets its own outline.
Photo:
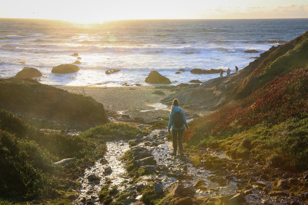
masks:
MULTIPOLYGON (((202 82, 219 74, 191 74, 194 68, 244 68, 271 46, 308 30, 308 19, 125 20, 76 24, 52 20, 0 19, 0 78, 23 67, 37 68, 48 85, 124 86, 144 82, 151 70, 172 85, 202 82), (259 53, 245 53, 257 50, 259 53), (77 60, 80 70, 51 73, 77 60), (106 70, 120 72, 105 74, 106 70), (180 74, 175 74, 184 69, 180 74)), ((224 74, 225 75, 225 74, 224 74)))

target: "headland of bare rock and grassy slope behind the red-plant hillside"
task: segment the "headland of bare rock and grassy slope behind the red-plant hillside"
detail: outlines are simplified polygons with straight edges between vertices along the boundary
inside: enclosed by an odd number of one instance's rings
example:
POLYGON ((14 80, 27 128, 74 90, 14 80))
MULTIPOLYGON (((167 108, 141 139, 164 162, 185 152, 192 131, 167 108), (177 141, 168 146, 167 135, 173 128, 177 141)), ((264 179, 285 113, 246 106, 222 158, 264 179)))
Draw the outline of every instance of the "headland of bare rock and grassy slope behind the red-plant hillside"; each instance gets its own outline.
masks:
POLYGON ((275 77, 304 68, 308 64, 308 31, 300 37, 260 55, 238 73, 214 78, 198 88, 182 88, 162 102, 178 98, 182 107, 214 111, 232 100, 243 99, 275 77))

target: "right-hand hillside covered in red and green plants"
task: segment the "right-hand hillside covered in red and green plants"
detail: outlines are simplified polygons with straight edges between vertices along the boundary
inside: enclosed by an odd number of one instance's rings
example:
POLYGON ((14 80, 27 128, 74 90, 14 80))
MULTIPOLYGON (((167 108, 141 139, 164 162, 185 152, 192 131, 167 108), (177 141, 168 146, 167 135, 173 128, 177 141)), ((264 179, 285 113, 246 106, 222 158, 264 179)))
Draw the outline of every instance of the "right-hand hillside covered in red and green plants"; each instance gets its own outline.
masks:
POLYGON ((186 142, 269 167, 307 170, 307 54, 307 32, 279 46, 237 84, 235 98, 243 99, 195 119, 184 136, 186 142))

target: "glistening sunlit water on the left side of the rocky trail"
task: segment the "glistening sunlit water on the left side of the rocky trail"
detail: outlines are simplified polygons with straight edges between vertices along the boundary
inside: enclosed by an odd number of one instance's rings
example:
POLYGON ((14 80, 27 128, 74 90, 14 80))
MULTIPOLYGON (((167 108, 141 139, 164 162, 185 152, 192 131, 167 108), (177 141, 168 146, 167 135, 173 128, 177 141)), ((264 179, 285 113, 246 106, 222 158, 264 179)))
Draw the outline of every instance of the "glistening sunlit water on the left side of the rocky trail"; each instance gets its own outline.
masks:
POLYGON ((124 163, 120 160, 120 156, 129 149, 128 142, 107 142, 106 146, 107 151, 104 159, 107 160, 107 163, 101 163, 100 159, 98 159, 95 161, 94 166, 85 170, 83 177, 79 179, 82 184, 82 188, 79 192, 79 197, 75 200, 75 204, 81 204, 84 197, 86 199, 91 198, 91 201, 95 203, 98 199, 98 193, 101 187, 108 180, 111 181, 111 184, 109 184, 110 187, 117 186, 119 191, 124 189, 124 185, 122 185, 124 180, 131 180, 131 178, 128 177, 124 163), (108 169, 111 169, 112 172, 110 171, 105 173, 108 169), (87 179, 89 175, 99 176, 100 180, 89 182, 87 179))

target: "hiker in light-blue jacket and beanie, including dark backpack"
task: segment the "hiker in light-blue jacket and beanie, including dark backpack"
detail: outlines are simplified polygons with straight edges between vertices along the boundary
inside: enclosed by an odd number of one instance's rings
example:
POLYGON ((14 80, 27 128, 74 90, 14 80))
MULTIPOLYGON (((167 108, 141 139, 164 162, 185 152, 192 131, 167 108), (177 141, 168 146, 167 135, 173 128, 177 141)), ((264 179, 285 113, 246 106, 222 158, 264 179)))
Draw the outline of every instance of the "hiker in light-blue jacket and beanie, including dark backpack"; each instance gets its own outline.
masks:
POLYGON ((179 107, 179 101, 177 99, 173 100, 171 106, 171 112, 169 115, 169 124, 168 124, 168 133, 170 134, 170 128, 172 126, 172 145, 173 145, 173 153, 172 155, 176 155, 177 150, 177 142, 179 143, 179 151, 180 155, 183 156, 183 143, 182 137, 184 133, 184 126, 186 127, 186 131, 189 129, 188 124, 186 122, 186 117, 184 111, 179 107))

